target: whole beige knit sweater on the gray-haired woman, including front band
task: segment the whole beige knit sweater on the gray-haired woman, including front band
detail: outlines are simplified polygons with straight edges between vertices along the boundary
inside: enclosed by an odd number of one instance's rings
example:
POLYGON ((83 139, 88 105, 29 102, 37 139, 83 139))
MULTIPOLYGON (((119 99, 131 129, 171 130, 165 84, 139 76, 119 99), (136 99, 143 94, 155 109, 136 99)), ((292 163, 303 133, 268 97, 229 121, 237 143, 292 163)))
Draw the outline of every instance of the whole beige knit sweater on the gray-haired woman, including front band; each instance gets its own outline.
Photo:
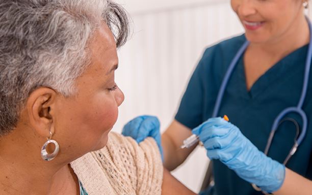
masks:
POLYGON ((110 133, 106 147, 70 165, 89 195, 161 194, 163 165, 152 138, 138 145, 130 137, 110 133))

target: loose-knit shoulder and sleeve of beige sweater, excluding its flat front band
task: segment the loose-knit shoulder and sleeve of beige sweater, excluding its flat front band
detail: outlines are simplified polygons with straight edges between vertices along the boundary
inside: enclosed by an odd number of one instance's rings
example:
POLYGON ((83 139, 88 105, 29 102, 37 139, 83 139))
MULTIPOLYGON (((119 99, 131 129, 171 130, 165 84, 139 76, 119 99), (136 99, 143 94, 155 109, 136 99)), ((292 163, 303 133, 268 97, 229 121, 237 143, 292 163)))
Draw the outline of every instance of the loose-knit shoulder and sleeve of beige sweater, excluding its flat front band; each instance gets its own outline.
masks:
POLYGON ((105 148, 92 152, 116 194, 161 194, 163 165, 157 143, 110 133, 105 148))

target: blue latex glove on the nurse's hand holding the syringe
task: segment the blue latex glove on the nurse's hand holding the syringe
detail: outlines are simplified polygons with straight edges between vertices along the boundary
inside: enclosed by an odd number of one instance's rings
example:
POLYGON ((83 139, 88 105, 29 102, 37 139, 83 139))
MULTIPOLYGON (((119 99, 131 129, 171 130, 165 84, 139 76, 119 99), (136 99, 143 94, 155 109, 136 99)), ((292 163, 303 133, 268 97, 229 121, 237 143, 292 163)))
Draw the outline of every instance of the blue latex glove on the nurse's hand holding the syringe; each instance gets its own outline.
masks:
POLYGON ((281 187, 285 178, 284 165, 259 151, 235 125, 220 117, 211 118, 192 133, 199 136, 210 159, 219 159, 242 179, 266 192, 281 187))

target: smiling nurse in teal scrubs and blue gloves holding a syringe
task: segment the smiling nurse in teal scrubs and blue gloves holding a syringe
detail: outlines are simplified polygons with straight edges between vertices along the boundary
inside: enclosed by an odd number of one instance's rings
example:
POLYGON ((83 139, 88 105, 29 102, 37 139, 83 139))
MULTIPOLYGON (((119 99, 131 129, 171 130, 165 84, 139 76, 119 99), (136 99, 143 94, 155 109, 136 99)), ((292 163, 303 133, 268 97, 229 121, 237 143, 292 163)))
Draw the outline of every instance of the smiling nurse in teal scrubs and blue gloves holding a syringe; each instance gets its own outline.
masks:
MULTIPOLYGON (((205 50, 162 142, 157 128, 144 132, 145 126, 153 125, 147 116, 128 123, 123 133, 138 142, 154 137, 169 170, 183 163, 196 147, 178 150, 183 140, 192 133, 198 135, 214 165, 215 185, 205 194, 262 194, 250 183, 265 193, 311 194, 311 76, 302 106, 308 119, 307 133, 297 152, 282 164, 296 137, 296 126, 285 121, 276 131, 269 157, 263 153, 276 116, 297 106, 300 99, 309 44, 304 16, 307 5, 302 0, 231 0, 245 34, 205 50), (229 64, 246 40, 250 44, 237 61, 218 110, 218 116, 226 114, 232 124, 221 118, 209 119, 229 64)), ((297 114, 287 117, 302 127, 297 114)))

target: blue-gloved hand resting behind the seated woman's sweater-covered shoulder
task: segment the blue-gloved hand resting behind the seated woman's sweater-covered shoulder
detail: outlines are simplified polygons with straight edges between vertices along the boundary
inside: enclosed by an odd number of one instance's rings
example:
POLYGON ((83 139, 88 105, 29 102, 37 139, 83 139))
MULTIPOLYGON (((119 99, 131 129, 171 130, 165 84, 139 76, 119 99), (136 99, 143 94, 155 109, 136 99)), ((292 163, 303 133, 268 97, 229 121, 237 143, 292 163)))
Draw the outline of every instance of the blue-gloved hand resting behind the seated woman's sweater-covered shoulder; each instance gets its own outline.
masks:
POLYGON ((160 122, 157 117, 143 115, 132 119, 124 125, 122 135, 130 136, 138 143, 142 142, 147 137, 154 138, 159 147, 162 160, 164 159, 160 134, 160 122))

